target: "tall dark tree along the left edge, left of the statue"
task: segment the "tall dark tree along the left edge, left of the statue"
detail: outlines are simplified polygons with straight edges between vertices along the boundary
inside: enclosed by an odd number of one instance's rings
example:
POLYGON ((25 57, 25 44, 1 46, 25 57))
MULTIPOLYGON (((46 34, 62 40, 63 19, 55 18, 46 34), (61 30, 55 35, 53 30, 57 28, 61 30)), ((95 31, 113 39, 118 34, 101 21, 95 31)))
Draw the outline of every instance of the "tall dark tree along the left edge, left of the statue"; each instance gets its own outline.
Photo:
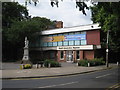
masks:
POLYGON ((7 31, 15 21, 29 18, 26 7, 17 2, 2 2, 2 58, 4 60, 16 59, 17 48, 7 40, 7 31), (14 58, 13 58, 14 57, 14 58))

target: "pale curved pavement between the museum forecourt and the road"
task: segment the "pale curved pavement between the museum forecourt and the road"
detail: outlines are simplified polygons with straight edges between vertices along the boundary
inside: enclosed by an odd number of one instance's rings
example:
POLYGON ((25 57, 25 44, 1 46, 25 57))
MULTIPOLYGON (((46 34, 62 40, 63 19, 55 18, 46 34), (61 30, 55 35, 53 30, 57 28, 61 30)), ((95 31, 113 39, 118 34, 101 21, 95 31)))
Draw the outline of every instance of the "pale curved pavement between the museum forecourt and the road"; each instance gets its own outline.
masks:
POLYGON ((62 67, 56 68, 36 68, 36 65, 33 65, 32 69, 20 69, 20 64, 3 63, 4 67, 0 72, 2 72, 2 79, 21 79, 75 75, 118 67, 117 64, 109 64, 109 68, 106 65, 83 67, 77 66, 75 63, 61 63, 61 65, 62 67))

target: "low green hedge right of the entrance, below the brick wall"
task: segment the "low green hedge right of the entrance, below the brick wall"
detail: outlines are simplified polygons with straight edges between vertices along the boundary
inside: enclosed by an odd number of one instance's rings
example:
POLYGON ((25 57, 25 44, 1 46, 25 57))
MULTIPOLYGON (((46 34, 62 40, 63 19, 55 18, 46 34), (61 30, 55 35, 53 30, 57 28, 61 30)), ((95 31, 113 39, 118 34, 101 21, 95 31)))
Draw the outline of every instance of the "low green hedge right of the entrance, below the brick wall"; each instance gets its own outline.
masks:
POLYGON ((78 62, 78 66, 88 66, 88 63, 90 63, 90 66, 98 66, 98 65, 104 65, 105 61, 103 61, 103 58, 95 58, 93 60, 80 60, 78 62))

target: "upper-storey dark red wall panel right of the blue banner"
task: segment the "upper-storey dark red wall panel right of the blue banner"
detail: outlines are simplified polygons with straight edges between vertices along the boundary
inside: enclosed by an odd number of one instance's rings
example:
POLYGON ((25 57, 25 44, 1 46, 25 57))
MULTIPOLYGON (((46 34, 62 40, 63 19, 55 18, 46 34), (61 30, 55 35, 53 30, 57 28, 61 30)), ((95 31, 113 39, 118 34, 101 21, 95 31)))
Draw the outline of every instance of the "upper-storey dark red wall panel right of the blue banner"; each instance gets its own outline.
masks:
POLYGON ((87 45, 100 45, 100 31, 87 31, 87 45))

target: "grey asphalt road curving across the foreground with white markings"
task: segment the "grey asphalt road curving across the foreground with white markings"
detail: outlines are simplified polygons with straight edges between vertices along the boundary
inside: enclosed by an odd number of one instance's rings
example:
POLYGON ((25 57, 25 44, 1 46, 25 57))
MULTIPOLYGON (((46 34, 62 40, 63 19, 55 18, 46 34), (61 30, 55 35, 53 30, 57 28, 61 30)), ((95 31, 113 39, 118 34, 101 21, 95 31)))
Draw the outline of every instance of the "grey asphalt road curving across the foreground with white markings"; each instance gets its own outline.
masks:
POLYGON ((119 70, 114 68, 71 76, 3 80, 3 88, 118 88, 119 70))

